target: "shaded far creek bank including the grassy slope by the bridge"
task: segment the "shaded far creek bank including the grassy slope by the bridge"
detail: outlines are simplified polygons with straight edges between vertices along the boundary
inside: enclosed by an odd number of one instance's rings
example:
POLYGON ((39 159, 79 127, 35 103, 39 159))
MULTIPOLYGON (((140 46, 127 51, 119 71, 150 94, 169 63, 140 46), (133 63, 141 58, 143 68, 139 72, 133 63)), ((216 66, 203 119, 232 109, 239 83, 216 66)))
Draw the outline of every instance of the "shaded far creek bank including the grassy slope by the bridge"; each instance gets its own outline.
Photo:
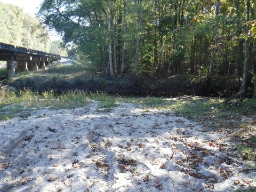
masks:
MULTIPOLYGON (((132 76, 125 74, 123 78, 109 79, 102 73, 94 72, 89 62, 69 61, 70 65, 56 64, 46 71, 37 73, 20 73, 17 77, 7 80, 18 90, 24 87, 32 91, 55 90, 59 93, 83 90, 89 92, 102 91, 109 94, 134 96, 209 95, 203 83, 203 77, 194 74, 174 76, 158 76, 144 73, 134 85, 132 76)), ((227 97, 239 90, 239 82, 231 76, 212 78, 212 96, 227 97)))

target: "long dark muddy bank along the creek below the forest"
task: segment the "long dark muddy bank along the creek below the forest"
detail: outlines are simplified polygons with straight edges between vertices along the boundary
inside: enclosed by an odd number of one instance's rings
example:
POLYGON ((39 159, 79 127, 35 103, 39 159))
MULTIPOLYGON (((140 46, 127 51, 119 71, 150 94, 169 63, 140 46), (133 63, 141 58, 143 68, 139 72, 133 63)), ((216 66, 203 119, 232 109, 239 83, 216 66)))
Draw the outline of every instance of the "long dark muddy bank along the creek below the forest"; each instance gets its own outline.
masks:
POLYGON ((30 89, 33 91, 55 90, 57 93, 83 90, 87 92, 107 92, 124 96, 146 97, 177 97, 181 95, 197 95, 206 97, 229 97, 239 90, 231 79, 222 77, 215 79, 209 89, 204 81, 191 82, 191 75, 179 75, 156 79, 155 77, 141 76, 137 84, 133 85, 131 77, 109 80, 106 77, 79 78, 55 80, 46 76, 27 77, 15 81, 11 86, 17 90, 30 89), (220 84, 219 82, 226 82, 220 84))

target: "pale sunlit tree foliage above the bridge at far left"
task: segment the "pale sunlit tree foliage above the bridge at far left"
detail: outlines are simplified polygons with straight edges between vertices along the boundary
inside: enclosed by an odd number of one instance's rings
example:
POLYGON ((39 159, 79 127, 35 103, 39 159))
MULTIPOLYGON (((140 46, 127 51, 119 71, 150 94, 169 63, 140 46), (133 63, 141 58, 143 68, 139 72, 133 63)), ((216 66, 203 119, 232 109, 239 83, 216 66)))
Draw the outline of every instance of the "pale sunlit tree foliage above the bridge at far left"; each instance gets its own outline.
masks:
POLYGON ((50 38, 45 27, 18 6, 0 2, 0 26, 0 42, 49 52, 50 38))

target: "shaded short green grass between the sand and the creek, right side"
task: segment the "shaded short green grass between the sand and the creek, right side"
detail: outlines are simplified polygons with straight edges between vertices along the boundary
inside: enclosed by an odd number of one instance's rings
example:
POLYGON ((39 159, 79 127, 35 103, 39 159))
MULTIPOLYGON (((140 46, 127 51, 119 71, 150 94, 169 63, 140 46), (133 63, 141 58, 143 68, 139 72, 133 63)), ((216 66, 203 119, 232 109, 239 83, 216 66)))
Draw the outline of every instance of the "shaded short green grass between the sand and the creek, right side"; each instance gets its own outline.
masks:
MULTIPOLYGON (((236 129, 242 126, 243 116, 256 114, 256 99, 246 99, 243 103, 220 105, 223 99, 197 97, 187 98, 145 98, 138 103, 145 104, 145 109, 156 108, 175 111, 177 115, 201 123, 208 129, 236 129), (235 121, 233 121, 235 120, 235 121)), ((132 101, 135 102, 135 101, 132 101)))

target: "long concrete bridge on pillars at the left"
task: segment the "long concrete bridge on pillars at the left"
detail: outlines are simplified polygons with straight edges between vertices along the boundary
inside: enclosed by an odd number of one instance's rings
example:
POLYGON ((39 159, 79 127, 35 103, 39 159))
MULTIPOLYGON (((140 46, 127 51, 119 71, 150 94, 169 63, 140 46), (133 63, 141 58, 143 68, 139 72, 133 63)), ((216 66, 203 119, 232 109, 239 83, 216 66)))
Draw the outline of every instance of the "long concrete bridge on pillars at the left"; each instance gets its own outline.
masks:
POLYGON ((17 61, 17 72, 20 73, 28 70, 37 71, 38 68, 45 70, 47 65, 59 59, 60 55, 57 54, 0 43, 0 61, 6 61, 8 78, 15 76, 13 61, 17 61))

